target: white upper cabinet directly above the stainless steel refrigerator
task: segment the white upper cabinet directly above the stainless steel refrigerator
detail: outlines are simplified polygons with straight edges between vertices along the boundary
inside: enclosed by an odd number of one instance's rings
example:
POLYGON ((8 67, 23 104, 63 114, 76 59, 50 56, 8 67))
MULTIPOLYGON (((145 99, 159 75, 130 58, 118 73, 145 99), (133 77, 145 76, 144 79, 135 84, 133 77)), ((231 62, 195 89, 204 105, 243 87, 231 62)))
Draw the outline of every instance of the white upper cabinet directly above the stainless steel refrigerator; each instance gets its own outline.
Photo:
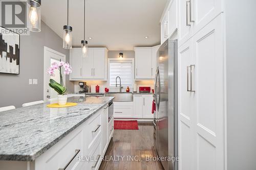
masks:
POLYGON ((177 30, 177 0, 166 5, 161 19, 161 44, 177 30))

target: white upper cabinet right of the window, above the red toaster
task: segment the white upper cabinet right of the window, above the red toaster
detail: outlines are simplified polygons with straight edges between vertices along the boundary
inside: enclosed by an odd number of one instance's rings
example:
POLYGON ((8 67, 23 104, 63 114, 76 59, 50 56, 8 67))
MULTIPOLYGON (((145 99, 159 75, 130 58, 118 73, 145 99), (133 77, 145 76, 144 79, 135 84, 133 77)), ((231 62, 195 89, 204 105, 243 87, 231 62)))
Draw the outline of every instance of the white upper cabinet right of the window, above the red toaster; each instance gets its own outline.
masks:
POLYGON ((135 79, 154 79, 159 45, 135 47, 135 79))

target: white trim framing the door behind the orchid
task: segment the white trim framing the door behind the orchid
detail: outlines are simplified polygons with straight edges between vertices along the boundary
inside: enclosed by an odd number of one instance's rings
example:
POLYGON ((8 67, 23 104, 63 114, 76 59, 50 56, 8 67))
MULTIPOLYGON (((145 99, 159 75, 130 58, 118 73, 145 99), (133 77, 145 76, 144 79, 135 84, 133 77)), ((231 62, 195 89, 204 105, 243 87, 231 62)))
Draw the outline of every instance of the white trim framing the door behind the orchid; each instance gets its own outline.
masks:
MULTIPOLYGON (((66 62, 66 55, 65 54, 62 54, 62 53, 59 53, 55 50, 52 50, 51 48, 47 47, 47 46, 44 46, 44 101, 46 102, 47 98, 46 98, 46 74, 47 74, 47 69, 46 69, 46 64, 47 64, 47 56, 46 56, 46 52, 49 51, 49 52, 52 52, 52 53, 55 53, 59 56, 62 56, 64 59, 63 61, 66 62)), ((66 76, 63 76, 63 81, 66 81, 66 76)), ((66 82, 65 82, 66 83, 66 82)))

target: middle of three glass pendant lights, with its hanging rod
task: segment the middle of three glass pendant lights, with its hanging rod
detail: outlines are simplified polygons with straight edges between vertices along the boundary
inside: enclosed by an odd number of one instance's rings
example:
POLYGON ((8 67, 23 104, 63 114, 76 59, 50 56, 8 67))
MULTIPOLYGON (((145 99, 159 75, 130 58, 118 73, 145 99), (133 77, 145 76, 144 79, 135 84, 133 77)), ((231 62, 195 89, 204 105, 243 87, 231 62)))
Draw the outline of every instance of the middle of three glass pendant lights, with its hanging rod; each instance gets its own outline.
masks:
POLYGON ((68 0, 68 24, 63 26, 63 48, 72 48, 72 27, 69 26, 69 0, 68 0))

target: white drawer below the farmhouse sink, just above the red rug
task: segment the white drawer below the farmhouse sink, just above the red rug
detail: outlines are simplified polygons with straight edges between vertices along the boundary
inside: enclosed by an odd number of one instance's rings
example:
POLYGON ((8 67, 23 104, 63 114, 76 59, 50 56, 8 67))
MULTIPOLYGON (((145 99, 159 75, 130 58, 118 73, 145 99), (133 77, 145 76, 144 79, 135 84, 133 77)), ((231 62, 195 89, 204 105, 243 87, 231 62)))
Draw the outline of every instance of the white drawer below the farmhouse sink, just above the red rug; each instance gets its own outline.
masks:
POLYGON ((114 117, 115 118, 132 118, 133 117, 133 106, 114 106, 114 117))

